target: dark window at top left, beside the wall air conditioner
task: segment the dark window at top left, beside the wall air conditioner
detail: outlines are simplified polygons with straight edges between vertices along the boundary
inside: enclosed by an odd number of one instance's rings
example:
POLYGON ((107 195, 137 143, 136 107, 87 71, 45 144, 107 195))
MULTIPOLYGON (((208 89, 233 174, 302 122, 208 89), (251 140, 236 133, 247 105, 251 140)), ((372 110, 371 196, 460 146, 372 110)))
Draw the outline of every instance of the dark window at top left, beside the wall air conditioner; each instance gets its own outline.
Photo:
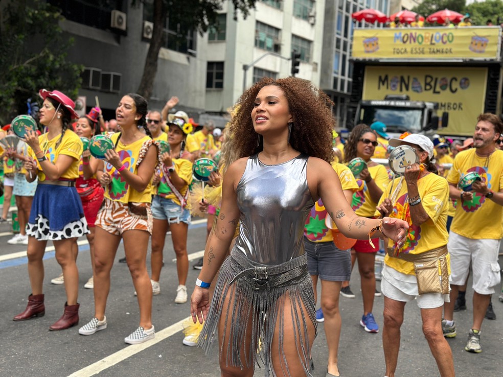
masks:
POLYGON ((122 0, 48 0, 48 3, 59 8, 61 14, 70 21, 81 23, 96 29, 110 29, 112 10, 125 11, 122 0))

